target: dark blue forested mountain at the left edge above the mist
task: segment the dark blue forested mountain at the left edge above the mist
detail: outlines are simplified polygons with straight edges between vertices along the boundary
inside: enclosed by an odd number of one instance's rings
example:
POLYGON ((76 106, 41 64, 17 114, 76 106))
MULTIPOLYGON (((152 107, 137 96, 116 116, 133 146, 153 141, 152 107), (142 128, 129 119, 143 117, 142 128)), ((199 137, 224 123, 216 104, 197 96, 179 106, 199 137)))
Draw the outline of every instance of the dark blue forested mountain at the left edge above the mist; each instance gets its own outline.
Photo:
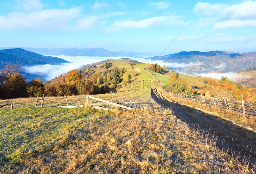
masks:
POLYGON ((0 69, 9 63, 19 66, 34 66, 45 64, 60 65, 61 63, 69 63, 68 61, 61 58, 43 56, 21 48, 0 50, 0 62, 0 69))

